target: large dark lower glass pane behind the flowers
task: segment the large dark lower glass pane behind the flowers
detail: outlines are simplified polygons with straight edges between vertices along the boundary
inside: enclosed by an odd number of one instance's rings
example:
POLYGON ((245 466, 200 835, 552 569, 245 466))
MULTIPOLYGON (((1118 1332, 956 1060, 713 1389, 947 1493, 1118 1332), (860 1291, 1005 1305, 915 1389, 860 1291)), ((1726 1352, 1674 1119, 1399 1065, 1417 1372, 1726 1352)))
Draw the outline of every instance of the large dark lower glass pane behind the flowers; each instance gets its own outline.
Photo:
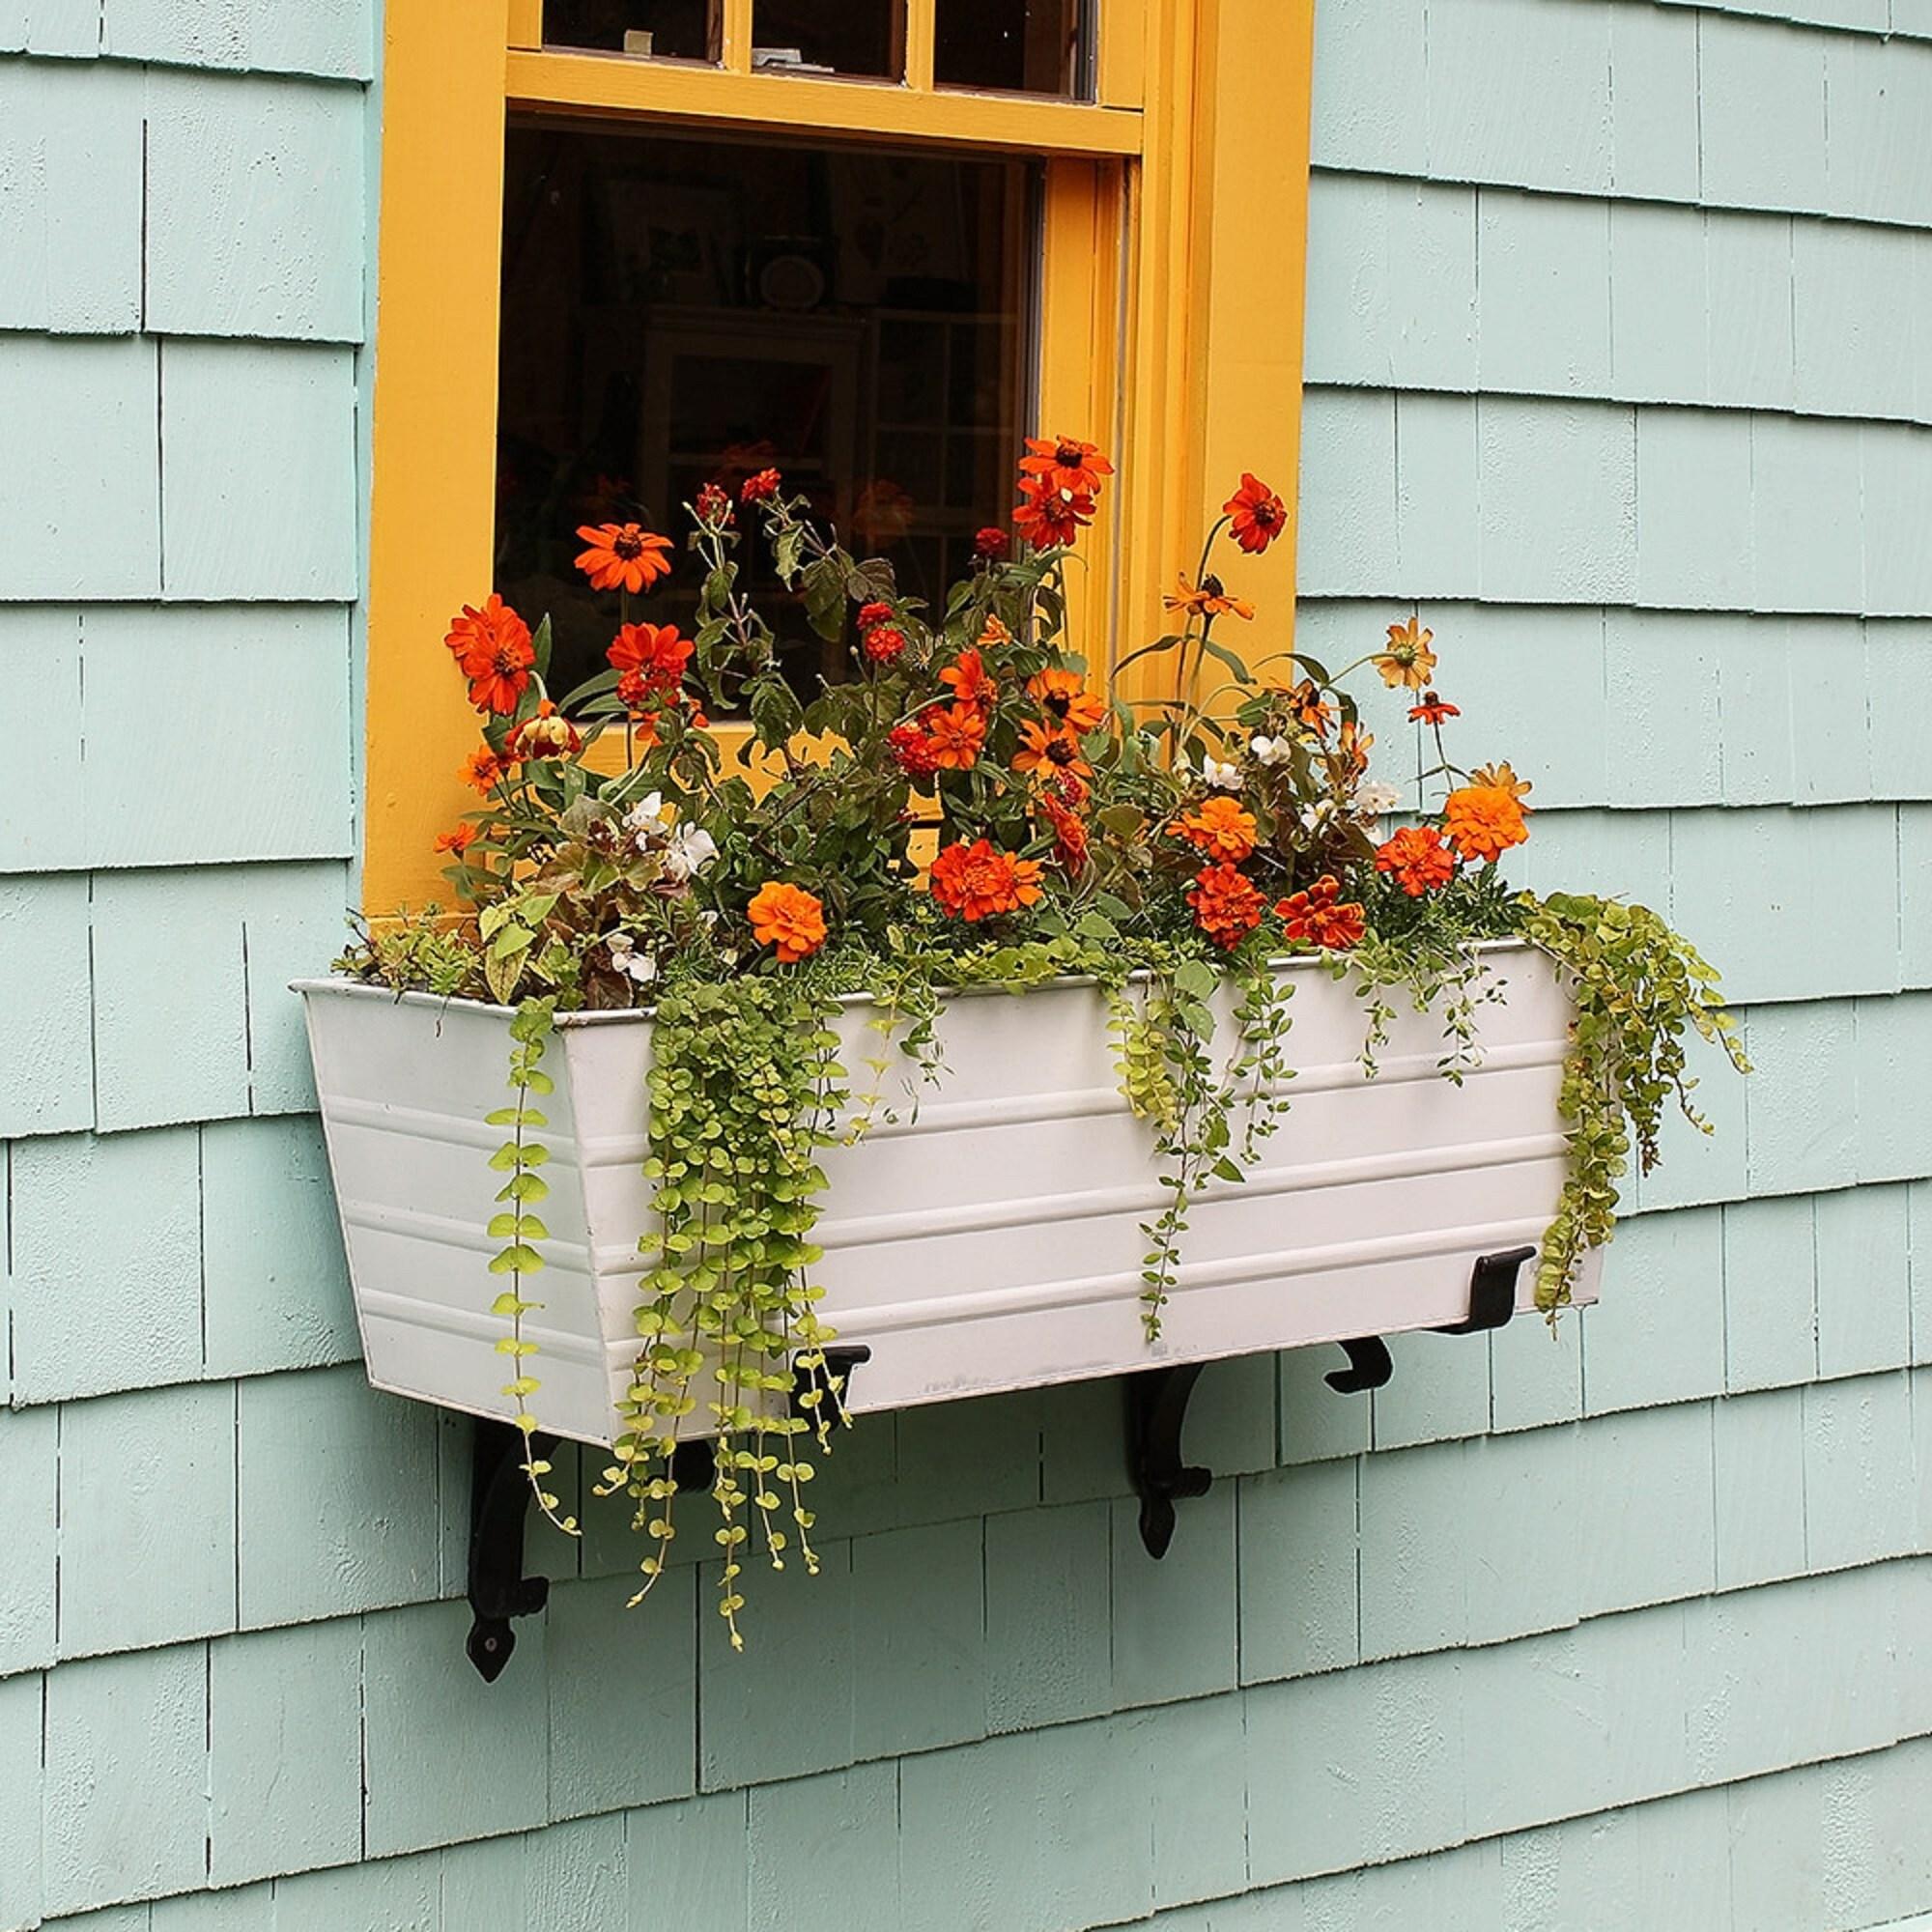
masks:
MULTIPOLYGON (((641 522, 775 466, 862 554, 939 601, 1003 522, 1030 417, 1036 164, 514 126, 504 193, 497 589, 556 622, 553 688, 616 624, 690 630, 696 580, 576 572, 580 524, 641 522)), ((740 560, 802 696, 848 672, 740 560)))

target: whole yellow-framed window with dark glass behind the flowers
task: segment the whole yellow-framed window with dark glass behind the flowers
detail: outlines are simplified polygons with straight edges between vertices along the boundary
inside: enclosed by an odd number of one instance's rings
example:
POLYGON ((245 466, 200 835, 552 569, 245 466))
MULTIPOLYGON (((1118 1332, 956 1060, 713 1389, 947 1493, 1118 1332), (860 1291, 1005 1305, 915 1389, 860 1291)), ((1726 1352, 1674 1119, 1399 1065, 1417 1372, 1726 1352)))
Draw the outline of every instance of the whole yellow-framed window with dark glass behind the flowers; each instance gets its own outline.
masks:
MULTIPOLYGON (((1312 15, 390 8, 363 902, 440 885, 431 838, 473 738, 437 649, 450 612, 500 583, 556 612, 558 668, 582 668, 611 612, 568 529, 605 500, 672 522, 748 442, 937 585, 1010 504, 1022 433, 1094 435, 1122 473, 1072 641, 1105 663, 1151 634, 1225 477, 1293 485, 1312 15)), ((1258 572, 1281 582, 1252 585, 1271 649, 1291 568, 1275 554, 1258 572)), ((800 682, 837 674, 786 636, 800 682)))

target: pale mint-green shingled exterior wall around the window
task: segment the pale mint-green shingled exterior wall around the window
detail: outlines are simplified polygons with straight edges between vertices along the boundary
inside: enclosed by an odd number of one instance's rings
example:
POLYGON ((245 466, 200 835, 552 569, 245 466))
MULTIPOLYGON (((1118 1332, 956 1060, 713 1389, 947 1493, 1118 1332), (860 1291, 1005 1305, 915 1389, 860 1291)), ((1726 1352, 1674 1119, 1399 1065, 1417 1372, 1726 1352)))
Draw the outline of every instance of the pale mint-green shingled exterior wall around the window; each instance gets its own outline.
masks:
POLYGON ((746 1658, 593 1513, 487 1689, 282 991, 354 893, 367 0, 0 0, 0 1926, 1932 1911, 1932 0, 1793 12, 1318 19, 1304 641, 1420 599, 1528 883, 1747 1009, 1604 1306, 1211 1370, 1163 1565, 1115 1387, 871 1418, 746 1658))

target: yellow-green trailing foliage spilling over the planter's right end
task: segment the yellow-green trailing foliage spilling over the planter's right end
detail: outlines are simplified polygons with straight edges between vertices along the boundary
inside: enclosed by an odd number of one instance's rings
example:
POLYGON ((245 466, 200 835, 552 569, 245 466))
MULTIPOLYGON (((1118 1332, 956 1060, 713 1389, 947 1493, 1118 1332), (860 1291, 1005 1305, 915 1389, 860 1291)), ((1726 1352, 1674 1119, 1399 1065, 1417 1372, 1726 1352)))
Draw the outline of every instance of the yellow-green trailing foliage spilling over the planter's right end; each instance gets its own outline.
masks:
POLYGON ((1569 1128, 1569 1177, 1536 1269, 1536 1306, 1551 1320, 1571 1298, 1584 1254, 1609 1240, 1617 1182, 1631 1165, 1658 1161, 1663 1107, 1677 1101, 1700 1132, 1710 1122, 1690 1105, 1685 1032, 1723 1047, 1739 1072, 1750 1065, 1718 999, 1718 974, 1648 906, 1578 893, 1519 898, 1522 935, 1569 976, 1577 1028, 1563 1068, 1559 1105, 1569 1128))

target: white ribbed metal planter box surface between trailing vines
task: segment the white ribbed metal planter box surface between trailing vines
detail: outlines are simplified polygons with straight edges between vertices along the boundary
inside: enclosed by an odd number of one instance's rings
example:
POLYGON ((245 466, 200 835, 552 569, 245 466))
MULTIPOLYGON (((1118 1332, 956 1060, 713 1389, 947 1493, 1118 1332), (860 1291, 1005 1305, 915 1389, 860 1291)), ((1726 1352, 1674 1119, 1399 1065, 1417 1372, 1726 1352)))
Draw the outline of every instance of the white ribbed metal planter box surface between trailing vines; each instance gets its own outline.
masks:
MULTIPOLYGON (((1455 1086, 1437 1072, 1439 1018, 1405 1012, 1366 1080, 1354 991, 1316 962, 1285 968, 1294 1105, 1248 1180, 1217 1182, 1194 1208, 1153 1347, 1140 1229, 1161 1190, 1099 995, 956 999, 941 1082, 823 1157, 821 1316, 840 1345, 871 1349, 852 1410, 1461 1320, 1476 1258, 1540 1240, 1565 1171, 1569 999, 1522 947, 1488 949, 1486 972, 1503 999, 1478 1007, 1484 1061, 1455 1086)), ((506 1323, 489 1314, 502 1281, 487 1273, 500 1244, 485 1236, 502 1132, 483 1117, 508 1101, 508 1012, 338 980, 299 991, 369 1379, 504 1416, 506 1323)), ((862 1003, 840 1018, 856 1084, 877 1057, 866 1020, 862 1003)), ((535 1412, 583 1441, 620 1430, 612 1405, 638 1349, 649 1059, 647 1018, 564 1014, 545 1061, 553 1238, 526 1333, 541 1349, 535 1412)), ((1594 1298, 1596 1273, 1592 1256, 1578 1300, 1594 1298)), ((1524 1308, 1532 1277, 1519 1277, 1524 1308)))

